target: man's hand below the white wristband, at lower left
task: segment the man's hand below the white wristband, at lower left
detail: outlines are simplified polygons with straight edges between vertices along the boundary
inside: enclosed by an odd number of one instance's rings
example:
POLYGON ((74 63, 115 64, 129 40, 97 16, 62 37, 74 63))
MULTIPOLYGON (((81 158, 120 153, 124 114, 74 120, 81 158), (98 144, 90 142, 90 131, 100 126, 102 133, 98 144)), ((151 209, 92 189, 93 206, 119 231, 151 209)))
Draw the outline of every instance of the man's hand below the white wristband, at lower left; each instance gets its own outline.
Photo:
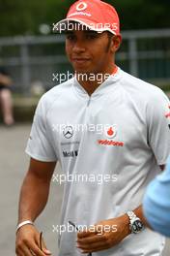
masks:
POLYGON ((33 225, 25 225, 17 231, 15 253, 17 256, 51 255, 43 240, 41 250, 40 233, 33 225))

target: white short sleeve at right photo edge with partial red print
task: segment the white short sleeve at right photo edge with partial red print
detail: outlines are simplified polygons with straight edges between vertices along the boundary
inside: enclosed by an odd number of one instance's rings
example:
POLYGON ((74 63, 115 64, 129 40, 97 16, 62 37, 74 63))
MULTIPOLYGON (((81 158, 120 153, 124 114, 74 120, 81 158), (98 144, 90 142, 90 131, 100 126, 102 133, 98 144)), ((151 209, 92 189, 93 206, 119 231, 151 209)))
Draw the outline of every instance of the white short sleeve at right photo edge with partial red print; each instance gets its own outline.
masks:
POLYGON ((147 108, 148 143, 158 165, 164 165, 170 154, 170 102, 159 89, 147 108))

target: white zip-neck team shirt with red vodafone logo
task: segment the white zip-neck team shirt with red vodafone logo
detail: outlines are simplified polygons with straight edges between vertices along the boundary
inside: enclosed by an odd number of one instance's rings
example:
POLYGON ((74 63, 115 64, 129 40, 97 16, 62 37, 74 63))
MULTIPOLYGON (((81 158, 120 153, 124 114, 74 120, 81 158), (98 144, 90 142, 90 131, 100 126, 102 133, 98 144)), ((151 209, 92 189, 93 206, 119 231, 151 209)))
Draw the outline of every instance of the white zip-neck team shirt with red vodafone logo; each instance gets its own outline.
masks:
MULTIPOLYGON (((64 174, 74 177, 65 183, 61 224, 90 226, 141 205, 170 153, 169 117, 165 94, 121 69, 91 97, 75 78, 45 93, 26 152, 40 161, 59 160, 64 174), (83 181, 76 178, 83 175, 83 181)), ((81 255, 75 240, 75 233, 62 233, 59 255, 81 255)), ((157 256, 163 244, 145 229, 93 255, 157 256)))

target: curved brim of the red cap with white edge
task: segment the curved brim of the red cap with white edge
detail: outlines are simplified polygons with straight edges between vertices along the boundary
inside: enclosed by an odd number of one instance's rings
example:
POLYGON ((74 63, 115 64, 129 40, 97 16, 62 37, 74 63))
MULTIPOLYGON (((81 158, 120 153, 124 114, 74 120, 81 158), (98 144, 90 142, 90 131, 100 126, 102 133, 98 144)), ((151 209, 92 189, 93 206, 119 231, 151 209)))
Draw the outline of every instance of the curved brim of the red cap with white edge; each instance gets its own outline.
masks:
POLYGON ((104 31, 109 31, 113 35, 116 35, 116 33, 113 30, 111 30, 110 28, 108 28, 108 27, 107 28, 106 27, 105 28, 99 28, 98 27, 99 24, 93 24, 92 21, 89 21, 89 19, 86 19, 86 18, 65 18, 65 19, 62 19, 59 22, 57 22, 56 24, 54 24, 53 31, 62 33, 66 30, 69 30, 68 29, 69 26, 67 26, 69 24, 69 21, 78 22, 81 25, 86 26, 90 30, 97 31, 99 33, 102 33, 104 31))

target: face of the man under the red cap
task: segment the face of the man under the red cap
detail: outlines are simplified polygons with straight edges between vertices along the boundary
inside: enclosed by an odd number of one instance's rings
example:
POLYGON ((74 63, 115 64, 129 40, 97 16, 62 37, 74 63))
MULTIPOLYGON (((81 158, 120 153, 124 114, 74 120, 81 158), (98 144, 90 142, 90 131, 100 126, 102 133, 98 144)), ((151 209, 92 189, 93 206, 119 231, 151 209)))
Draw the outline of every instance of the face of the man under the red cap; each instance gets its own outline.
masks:
POLYGON ((66 32, 66 52, 77 73, 97 74, 104 71, 113 63, 117 48, 114 40, 109 40, 107 32, 98 33, 83 26, 82 29, 66 32))

